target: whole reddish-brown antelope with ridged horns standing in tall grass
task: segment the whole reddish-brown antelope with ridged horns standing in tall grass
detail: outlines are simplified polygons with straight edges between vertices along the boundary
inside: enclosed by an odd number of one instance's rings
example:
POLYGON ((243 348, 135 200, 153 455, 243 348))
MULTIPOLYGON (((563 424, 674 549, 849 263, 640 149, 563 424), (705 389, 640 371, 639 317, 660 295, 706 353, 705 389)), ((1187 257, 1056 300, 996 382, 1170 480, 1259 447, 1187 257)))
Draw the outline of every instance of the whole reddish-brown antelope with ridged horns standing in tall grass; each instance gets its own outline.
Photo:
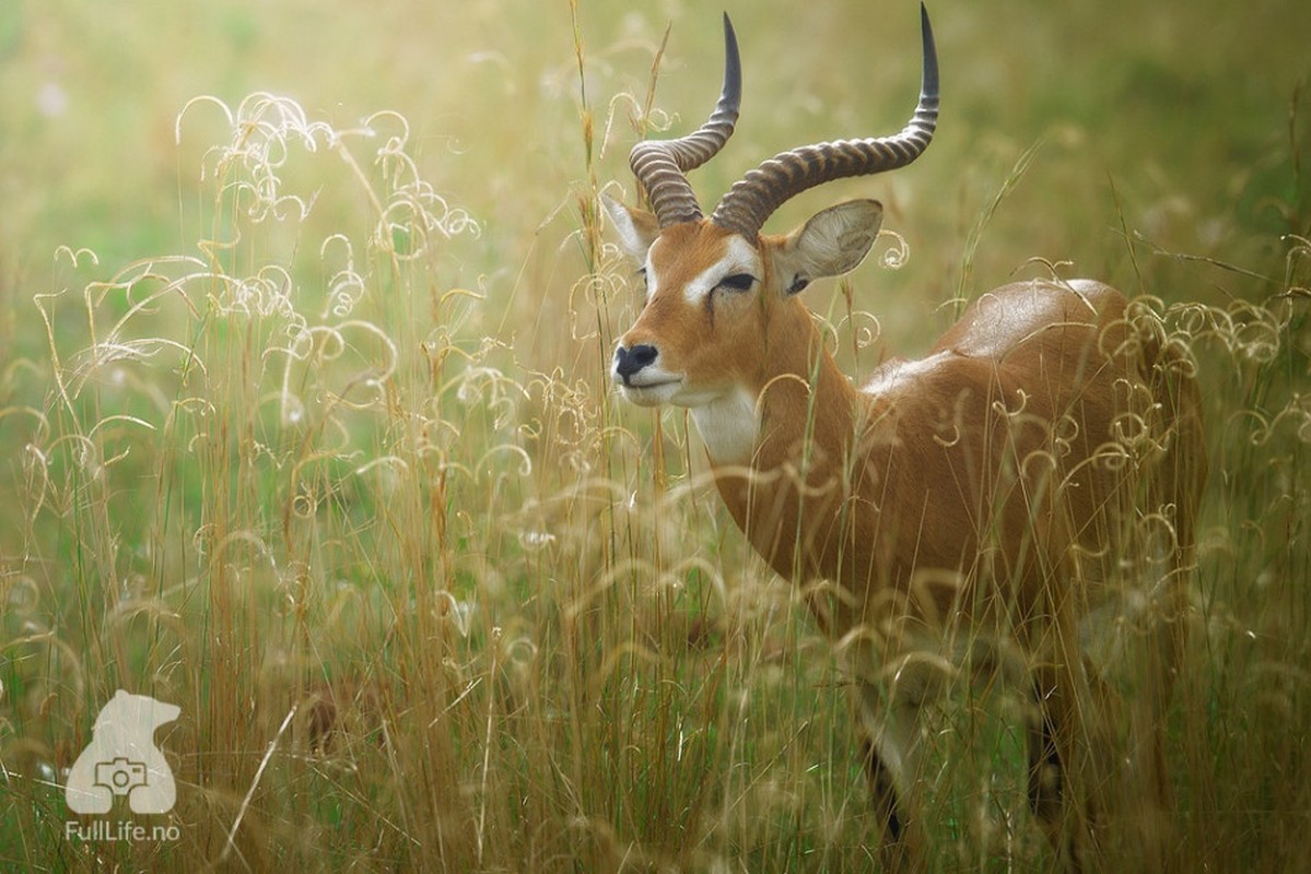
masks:
POLYGON ((848 656, 891 846, 924 852, 918 717, 968 667, 1033 696, 1029 802, 1066 865, 1114 837, 1099 822, 1130 794, 1112 798, 1112 777, 1156 811, 1141 837, 1160 864, 1162 721, 1205 476, 1186 352, 1108 286, 1019 282, 981 295, 924 358, 855 388, 798 292, 861 262, 881 206, 842 203, 785 236, 760 228, 806 189, 924 152, 939 107, 928 16, 919 106, 899 134, 777 155, 705 218, 686 173, 722 148, 741 97, 724 24, 713 114, 632 151, 652 212, 606 199, 646 286, 615 384, 640 406, 691 410, 733 519, 848 656), (1130 663, 1131 696, 1091 659, 1108 651, 1130 663))

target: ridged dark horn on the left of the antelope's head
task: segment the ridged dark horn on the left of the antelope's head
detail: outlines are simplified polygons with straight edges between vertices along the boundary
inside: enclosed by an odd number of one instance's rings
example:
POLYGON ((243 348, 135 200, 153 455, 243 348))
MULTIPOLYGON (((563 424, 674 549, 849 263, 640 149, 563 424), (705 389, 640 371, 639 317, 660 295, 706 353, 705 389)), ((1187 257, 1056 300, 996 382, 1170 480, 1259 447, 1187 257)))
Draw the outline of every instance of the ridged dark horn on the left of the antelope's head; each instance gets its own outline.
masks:
POLYGON ((742 102, 742 62, 737 34, 724 14, 724 88, 711 118, 695 134, 676 140, 646 140, 633 147, 628 164, 646 189, 661 228, 701 218, 692 186, 684 176, 709 161, 733 135, 742 102))

